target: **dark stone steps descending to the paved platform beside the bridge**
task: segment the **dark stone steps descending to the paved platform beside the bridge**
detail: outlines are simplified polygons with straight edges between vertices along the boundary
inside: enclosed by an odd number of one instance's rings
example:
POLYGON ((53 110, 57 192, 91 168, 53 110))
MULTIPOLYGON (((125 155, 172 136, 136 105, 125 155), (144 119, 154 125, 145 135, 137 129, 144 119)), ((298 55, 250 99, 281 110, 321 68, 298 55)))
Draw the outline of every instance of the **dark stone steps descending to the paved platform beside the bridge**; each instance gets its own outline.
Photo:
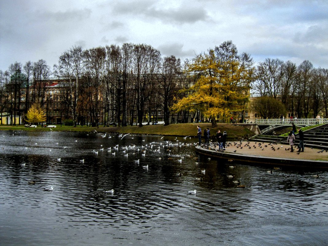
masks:
MULTIPOLYGON (((295 134, 295 145, 299 143, 298 134, 295 134)), ((255 135, 249 141, 287 143, 287 137, 273 135, 255 135)), ((304 146, 328 150, 328 124, 304 131, 304 146)))

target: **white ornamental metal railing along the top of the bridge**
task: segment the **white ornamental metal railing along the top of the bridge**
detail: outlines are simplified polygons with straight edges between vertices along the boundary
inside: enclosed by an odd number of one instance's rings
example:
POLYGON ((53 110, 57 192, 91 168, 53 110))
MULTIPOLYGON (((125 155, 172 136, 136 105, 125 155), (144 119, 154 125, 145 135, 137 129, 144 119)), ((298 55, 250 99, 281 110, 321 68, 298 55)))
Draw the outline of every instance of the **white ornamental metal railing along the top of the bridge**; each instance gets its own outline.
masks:
POLYGON ((295 125, 305 125, 305 126, 313 126, 317 124, 326 124, 328 123, 327 118, 320 119, 256 119, 256 125, 291 125, 294 123, 295 125))

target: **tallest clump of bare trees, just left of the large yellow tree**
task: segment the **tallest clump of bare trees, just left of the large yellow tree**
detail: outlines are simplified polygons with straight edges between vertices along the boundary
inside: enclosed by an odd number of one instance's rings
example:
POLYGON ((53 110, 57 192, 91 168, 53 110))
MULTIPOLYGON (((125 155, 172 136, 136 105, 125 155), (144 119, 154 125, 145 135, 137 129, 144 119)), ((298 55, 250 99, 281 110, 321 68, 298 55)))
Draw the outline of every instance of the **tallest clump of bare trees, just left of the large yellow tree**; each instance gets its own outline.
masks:
POLYGON ((161 57, 145 44, 123 44, 82 50, 72 47, 54 66, 55 76, 64 79, 70 91, 74 125, 78 118, 98 126, 101 111, 104 125, 132 125, 136 115, 142 126, 144 115, 164 113, 169 124, 174 94, 183 85, 180 60, 161 57), (146 107, 147 106, 147 107, 146 107))

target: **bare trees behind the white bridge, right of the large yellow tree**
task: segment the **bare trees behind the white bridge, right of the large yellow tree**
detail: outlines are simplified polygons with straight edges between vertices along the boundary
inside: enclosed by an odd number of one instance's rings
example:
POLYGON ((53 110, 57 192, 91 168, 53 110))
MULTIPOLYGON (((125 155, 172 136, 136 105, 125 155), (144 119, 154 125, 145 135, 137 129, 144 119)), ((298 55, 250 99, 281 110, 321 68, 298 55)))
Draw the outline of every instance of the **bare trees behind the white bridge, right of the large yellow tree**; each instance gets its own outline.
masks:
POLYGON ((252 87, 257 96, 278 99, 298 118, 316 117, 320 112, 328 117, 328 70, 314 68, 308 60, 297 66, 267 58, 257 65, 252 87))

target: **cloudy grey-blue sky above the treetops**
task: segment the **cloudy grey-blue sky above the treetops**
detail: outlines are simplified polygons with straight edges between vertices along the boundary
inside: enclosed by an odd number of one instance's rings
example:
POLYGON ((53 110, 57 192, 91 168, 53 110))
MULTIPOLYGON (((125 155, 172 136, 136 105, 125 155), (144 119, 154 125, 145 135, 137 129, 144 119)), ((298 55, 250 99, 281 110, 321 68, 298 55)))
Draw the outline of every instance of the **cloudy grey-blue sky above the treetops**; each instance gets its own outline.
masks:
POLYGON ((304 60, 328 69, 327 0, 1 0, 0 69, 52 66, 83 49, 147 44, 182 61, 232 40, 255 62, 304 60))

